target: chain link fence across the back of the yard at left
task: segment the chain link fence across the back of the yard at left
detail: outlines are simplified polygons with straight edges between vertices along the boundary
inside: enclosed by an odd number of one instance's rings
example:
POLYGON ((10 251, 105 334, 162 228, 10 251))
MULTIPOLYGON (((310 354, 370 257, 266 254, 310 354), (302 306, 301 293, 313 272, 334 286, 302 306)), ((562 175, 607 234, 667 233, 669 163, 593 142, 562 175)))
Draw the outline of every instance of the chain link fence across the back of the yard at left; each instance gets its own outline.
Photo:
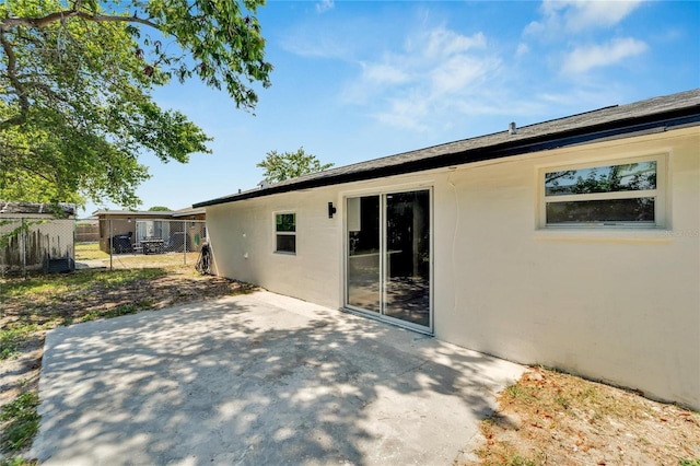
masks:
POLYGON ((4 217, 0 219, 0 275, 194 267, 206 241, 203 220, 4 217))

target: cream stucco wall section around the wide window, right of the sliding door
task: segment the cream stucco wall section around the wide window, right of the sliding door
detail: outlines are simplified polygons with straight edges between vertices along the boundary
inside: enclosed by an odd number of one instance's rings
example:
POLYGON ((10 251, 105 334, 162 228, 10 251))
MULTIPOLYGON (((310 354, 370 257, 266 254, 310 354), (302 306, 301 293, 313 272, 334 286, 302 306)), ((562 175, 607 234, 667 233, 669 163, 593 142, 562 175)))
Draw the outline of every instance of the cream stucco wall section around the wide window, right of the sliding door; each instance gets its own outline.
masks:
POLYGON ((453 258, 436 336, 700 407, 699 164, 696 128, 455 171, 435 199, 435 264, 453 258), (666 229, 538 230, 539 167, 656 153, 666 229))

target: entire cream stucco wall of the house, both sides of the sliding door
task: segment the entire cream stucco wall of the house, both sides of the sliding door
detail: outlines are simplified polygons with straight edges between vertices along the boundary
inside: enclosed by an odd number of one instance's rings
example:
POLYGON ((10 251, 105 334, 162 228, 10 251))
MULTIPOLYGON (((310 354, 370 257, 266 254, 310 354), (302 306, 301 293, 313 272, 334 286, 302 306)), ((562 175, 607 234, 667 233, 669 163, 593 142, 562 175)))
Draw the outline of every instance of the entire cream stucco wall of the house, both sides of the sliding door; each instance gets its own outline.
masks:
POLYGON ((698 128, 208 207, 217 270, 340 307, 345 196, 424 187, 438 338, 700 408, 698 128), (538 229, 540 168, 660 153, 665 229, 538 229), (272 253, 276 211, 296 213, 295 256, 272 253))

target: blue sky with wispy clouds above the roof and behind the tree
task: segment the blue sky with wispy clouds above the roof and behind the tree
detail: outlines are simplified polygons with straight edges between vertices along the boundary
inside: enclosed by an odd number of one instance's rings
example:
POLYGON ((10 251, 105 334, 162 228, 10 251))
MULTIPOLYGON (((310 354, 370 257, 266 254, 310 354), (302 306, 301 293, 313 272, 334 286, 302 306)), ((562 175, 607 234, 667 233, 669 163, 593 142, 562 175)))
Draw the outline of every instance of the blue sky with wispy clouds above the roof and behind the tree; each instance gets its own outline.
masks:
POLYGON ((340 166, 700 88, 698 1, 273 0, 258 19, 275 70, 255 116, 197 81, 155 92, 213 153, 142 156, 144 210, 253 188, 271 150, 340 166))

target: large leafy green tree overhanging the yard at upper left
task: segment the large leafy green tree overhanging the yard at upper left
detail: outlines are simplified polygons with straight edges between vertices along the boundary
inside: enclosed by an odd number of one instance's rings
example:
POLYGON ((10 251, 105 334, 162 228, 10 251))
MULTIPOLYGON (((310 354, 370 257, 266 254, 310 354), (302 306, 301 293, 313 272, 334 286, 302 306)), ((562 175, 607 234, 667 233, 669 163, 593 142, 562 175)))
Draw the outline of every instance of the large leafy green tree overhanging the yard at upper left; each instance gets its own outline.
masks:
POLYGON ((252 112, 271 65, 264 0, 7 0, 0 7, 0 198, 140 203, 144 154, 187 162, 210 139, 151 93, 225 88, 252 112))

